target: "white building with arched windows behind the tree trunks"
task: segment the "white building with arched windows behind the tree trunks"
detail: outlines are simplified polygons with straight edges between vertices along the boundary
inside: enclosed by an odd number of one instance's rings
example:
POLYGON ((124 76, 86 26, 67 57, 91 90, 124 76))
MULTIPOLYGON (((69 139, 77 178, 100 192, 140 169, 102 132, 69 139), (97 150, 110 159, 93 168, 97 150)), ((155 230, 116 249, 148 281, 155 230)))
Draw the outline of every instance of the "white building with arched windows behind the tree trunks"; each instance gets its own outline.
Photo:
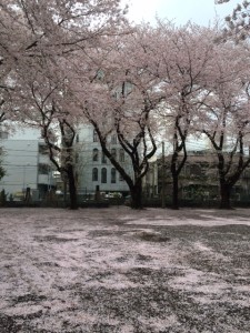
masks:
MULTIPOLYGON (((123 165, 127 172, 132 174, 131 161, 120 147, 116 134, 110 134, 108 144, 110 152, 117 157, 119 163, 123 165)), ((92 125, 84 125, 78 132, 76 160, 79 194, 92 194, 97 185, 101 192, 106 193, 129 193, 126 181, 102 153, 98 135, 92 125)))

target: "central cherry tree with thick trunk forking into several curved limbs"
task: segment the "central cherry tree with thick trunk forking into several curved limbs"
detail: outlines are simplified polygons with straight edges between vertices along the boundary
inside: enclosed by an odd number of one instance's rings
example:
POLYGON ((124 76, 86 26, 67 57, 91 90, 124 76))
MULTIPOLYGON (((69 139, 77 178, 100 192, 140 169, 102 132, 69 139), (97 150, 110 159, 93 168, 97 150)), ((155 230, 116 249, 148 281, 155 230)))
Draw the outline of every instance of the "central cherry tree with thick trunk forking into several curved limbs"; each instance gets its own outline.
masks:
POLYGON ((103 153, 130 189, 133 209, 142 208, 142 179, 157 151, 151 114, 161 100, 159 80, 148 70, 150 48, 146 30, 106 40, 106 49, 94 50, 89 62, 89 83, 83 85, 82 67, 78 68, 77 80, 72 80, 78 104, 93 125, 103 153), (110 151, 111 134, 117 135, 129 157, 132 174, 110 151))

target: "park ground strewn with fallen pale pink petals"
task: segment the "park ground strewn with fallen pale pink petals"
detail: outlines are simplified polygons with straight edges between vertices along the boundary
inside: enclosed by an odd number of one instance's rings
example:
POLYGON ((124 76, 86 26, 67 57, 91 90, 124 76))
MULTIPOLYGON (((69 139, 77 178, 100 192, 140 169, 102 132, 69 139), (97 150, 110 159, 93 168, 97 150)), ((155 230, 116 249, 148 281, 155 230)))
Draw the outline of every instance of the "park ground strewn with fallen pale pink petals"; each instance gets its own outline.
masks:
POLYGON ((0 332, 250 332, 250 209, 0 209, 0 332))

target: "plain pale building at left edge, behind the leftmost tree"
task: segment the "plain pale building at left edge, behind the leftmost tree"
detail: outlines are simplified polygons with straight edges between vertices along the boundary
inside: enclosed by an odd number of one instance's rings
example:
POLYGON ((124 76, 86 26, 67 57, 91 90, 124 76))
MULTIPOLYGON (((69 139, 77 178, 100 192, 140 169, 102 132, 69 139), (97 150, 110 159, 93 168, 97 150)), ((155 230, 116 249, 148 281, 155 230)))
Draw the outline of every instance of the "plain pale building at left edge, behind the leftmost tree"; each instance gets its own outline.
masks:
POLYGON ((0 131, 0 147, 3 152, 2 167, 7 174, 0 180, 0 191, 8 196, 22 198, 30 188, 33 200, 44 198, 53 186, 52 168, 40 131, 24 129, 14 133, 0 131))

